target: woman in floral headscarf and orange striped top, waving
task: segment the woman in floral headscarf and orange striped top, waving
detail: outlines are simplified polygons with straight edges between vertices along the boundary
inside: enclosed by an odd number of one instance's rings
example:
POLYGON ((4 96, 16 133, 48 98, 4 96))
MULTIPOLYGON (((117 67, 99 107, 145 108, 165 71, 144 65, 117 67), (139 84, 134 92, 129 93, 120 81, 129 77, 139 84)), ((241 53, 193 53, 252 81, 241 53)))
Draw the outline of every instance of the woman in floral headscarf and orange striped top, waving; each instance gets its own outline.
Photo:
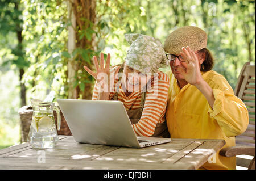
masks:
POLYGON ((159 39, 141 34, 126 34, 130 44, 125 63, 109 67, 110 54, 104 67, 101 53, 100 67, 94 56, 96 73, 84 66, 96 79, 93 100, 119 100, 126 108, 137 136, 170 137, 164 119, 169 79, 158 71, 168 66, 159 39), (119 75, 116 76, 119 72, 119 75))

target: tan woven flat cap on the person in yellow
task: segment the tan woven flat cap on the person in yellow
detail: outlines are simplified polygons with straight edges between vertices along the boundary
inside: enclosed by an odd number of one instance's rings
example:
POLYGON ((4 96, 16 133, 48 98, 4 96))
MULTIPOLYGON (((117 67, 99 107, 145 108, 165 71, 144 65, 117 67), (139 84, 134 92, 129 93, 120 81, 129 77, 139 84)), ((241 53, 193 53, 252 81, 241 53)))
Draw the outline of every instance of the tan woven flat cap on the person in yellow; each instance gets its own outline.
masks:
POLYGON ((195 26, 184 26, 170 33, 164 41, 167 53, 179 55, 182 47, 189 46, 192 50, 207 47, 207 33, 195 26))

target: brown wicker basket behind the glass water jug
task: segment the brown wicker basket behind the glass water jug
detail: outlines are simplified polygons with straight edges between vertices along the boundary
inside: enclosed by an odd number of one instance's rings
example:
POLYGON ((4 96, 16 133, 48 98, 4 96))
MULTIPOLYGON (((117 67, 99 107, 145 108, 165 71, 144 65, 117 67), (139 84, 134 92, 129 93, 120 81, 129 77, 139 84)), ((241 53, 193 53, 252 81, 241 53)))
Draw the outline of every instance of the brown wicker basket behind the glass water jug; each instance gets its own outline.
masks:
MULTIPOLYGON (((28 133, 30 132, 30 125, 32 120, 33 110, 30 105, 23 106, 19 109, 19 116, 20 116, 20 127, 21 127, 21 141, 26 142, 28 133)), ((56 112, 53 111, 55 124, 57 125, 57 115, 56 112)), ((61 115, 61 123, 60 123, 60 131, 57 130, 59 135, 72 135, 68 124, 63 116, 63 113, 60 111, 61 115)))

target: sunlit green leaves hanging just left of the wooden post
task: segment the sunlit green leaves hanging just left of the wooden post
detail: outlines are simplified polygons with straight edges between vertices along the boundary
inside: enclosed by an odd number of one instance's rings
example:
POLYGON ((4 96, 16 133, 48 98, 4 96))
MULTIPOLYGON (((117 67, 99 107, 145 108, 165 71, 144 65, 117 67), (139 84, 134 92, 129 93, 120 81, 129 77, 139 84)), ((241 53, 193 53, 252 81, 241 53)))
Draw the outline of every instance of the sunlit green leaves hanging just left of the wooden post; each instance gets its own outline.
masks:
POLYGON ((44 100, 52 90, 67 97, 67 3, 60 1, 23 0, 23 36, 26 57, 31 62, 24 75, 28 99, 44 100))

